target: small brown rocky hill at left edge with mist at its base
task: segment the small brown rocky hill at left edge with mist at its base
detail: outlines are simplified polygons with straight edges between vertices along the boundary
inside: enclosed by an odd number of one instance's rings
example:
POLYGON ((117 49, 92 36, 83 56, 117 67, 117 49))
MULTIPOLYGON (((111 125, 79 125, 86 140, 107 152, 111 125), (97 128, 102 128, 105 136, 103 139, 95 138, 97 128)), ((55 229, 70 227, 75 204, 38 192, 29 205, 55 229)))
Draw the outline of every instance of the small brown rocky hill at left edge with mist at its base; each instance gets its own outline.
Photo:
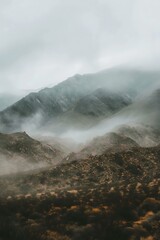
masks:
POLYGON ((64 152, 31 138, 25 132, 0 133, 0 174, 45 167, 62 160, 64 152))

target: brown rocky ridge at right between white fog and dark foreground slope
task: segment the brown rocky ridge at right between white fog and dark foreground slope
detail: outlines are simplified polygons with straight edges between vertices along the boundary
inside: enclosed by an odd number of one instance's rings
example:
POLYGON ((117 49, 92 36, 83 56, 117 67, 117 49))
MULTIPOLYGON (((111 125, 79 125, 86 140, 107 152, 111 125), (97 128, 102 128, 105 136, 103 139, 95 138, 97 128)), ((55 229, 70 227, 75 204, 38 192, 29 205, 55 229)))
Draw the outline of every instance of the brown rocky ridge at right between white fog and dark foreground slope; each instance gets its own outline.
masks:
POLYGON ((89 141, 81 147, 81 150, 71 152, 64 160, 73 161, 84 159, 89 155, 101 155, 106 150, 119 152, 122 149, 133 147, 154 147, 160 144, 159 129, 142 124, 124 124, 89 141))

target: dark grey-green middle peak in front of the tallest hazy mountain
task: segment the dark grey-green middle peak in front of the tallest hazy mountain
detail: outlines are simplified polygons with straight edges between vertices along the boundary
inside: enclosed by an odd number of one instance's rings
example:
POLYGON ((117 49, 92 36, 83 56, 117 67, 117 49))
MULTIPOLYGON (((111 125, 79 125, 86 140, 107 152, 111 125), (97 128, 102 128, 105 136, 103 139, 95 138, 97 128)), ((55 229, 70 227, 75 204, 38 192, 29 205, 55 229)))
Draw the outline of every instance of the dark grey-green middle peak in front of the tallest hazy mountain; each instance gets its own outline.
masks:
POLYGON ((48 121, 42 131, 61 134, 70 129, 85 130, 95 126, 102 119, 108 118, 131 104, 129 96, 98 88, 75 102, 72 109, 56 119, 48 121))

